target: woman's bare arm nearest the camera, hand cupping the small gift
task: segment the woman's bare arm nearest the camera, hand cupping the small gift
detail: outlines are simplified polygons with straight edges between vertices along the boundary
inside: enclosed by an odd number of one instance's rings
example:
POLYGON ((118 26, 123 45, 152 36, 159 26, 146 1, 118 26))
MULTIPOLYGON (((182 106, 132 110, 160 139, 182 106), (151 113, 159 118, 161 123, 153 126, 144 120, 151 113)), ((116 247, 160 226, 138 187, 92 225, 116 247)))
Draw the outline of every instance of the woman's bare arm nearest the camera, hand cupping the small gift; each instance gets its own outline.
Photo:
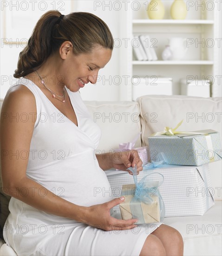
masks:
POLYGON ((0 148, 3 191, 36 209, 53 215, 67 217, 105 230, 131 229, 136 222, 135 219, 124 221, 110 216, 110 209, 122 202, 119 198, 104 204, 83 207, 54 195, 46 188, 44 188, 46 195, 41 196, 39 191, 43 187, 26 176, 28 159, 20 157, 22 150, 26 152, 30 150, 36 121, 36 117, 31 118, 33 113, 36 113, 36 103, 32 92, 22 85, 11 88, 1 110, 0 148), (30 117, 26 122, 20 120, 24 113, 30 117), (25 194, 24 188, 26 188, 25 194))

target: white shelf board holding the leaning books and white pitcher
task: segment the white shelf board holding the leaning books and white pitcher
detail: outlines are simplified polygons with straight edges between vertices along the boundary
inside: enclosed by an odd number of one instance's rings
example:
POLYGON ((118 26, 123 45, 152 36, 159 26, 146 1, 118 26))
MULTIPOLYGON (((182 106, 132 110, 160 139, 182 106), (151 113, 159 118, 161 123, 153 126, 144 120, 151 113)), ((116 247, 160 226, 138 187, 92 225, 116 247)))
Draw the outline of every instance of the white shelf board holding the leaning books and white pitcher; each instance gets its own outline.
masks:
POLYGON ((214 61, 132 61, 133 65, 214 65, 214 61))

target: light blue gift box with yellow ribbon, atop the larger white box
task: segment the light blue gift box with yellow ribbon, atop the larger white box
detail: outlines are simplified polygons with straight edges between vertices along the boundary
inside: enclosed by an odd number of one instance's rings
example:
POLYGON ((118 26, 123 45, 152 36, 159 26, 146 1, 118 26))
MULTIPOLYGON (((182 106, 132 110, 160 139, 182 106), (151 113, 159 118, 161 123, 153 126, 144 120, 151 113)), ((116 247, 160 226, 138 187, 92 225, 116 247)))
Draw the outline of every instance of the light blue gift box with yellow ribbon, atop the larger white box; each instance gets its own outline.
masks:
POLYGON ((168 164, 199 166, 222 159, 220 134, 214 130, 148 137, 150 160, 163 152, 168 164), (193 134, 192 134, 193 133, 193 134))

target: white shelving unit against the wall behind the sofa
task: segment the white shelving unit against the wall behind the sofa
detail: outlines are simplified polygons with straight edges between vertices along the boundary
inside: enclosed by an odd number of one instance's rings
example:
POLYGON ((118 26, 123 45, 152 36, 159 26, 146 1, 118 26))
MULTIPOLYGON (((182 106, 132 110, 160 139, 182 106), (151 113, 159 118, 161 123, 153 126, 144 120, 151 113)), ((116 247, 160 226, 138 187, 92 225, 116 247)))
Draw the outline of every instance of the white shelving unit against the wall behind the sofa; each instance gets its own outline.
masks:
MULTIPOLYGON (((139 1, 139 10, 122 11, 120 35, 124 44, 120 50, 120 74, 124 78, 120 86, 120 100, 132 100, 132 79, 134 76, 163 76, 173 78, 173 94, 180 94, 180 79, 205 79, 213 82, 211 96, 221 96, 221 22, 217 8, 193 7, 185 20, 172 20, 170 6, 173 0, 162 1, 165 6, 163 20, 150 20, 144 3, 139 1), (204 9, 204 10, 203 10, 204 9), (133 35, 149 34, 155 39, 157 61, 136 61, 132 52, 133 35), (190 39, 189 49, 183 61, 163 61, 162 52, 168 39, 183 37, 190 39), (126 41, 127 39, 127 41, 126 41), (210 45, 214 43, 214 46, 210 45), (221 44, 218 47, 217 44, 221 44)), ((144 94, 147 94, 144 91, 144 94)))

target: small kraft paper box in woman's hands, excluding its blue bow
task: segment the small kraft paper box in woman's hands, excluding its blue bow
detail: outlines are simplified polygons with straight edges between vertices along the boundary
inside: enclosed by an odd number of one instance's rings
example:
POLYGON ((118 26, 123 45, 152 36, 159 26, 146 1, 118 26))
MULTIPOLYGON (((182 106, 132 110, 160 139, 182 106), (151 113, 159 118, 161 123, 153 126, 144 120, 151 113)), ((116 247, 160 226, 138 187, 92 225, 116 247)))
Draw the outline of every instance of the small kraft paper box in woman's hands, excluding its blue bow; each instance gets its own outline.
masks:
POLYGON ((140 199, 137 200, 136 194, 135 184, 123 185, 121 195, 124 195, 125 200, 119 205, 122 219, 130 220, 132 218, 137 218, 137 224, 160 222, 159 197, 151 193, 150 197, 153 202, 147 204, 141 202, 140 199), (135 198, 134 201, 133 197, 135 198), (132 207, 136 208, 137 213, 133 214, 131 212, 132 207), (141 216, 141 214, 143 216, 141 216))

